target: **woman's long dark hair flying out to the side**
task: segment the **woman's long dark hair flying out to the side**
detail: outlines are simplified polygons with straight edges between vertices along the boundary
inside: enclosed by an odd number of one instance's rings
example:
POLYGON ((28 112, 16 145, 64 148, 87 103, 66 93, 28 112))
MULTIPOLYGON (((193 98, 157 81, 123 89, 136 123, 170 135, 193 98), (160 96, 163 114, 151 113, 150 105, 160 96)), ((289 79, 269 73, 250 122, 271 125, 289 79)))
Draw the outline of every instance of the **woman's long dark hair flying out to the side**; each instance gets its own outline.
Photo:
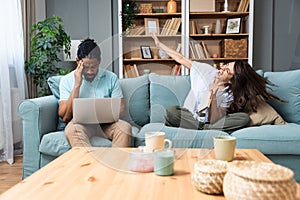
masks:
POLYGON ((230 79, 230 90, 233 102, 227 112, 256 112, 260 101, 267 99, 280 100, 267 91, 267 85, 274 85, 257 74, 249 63, 237 60, 234 64, 234 75, 230 79))

